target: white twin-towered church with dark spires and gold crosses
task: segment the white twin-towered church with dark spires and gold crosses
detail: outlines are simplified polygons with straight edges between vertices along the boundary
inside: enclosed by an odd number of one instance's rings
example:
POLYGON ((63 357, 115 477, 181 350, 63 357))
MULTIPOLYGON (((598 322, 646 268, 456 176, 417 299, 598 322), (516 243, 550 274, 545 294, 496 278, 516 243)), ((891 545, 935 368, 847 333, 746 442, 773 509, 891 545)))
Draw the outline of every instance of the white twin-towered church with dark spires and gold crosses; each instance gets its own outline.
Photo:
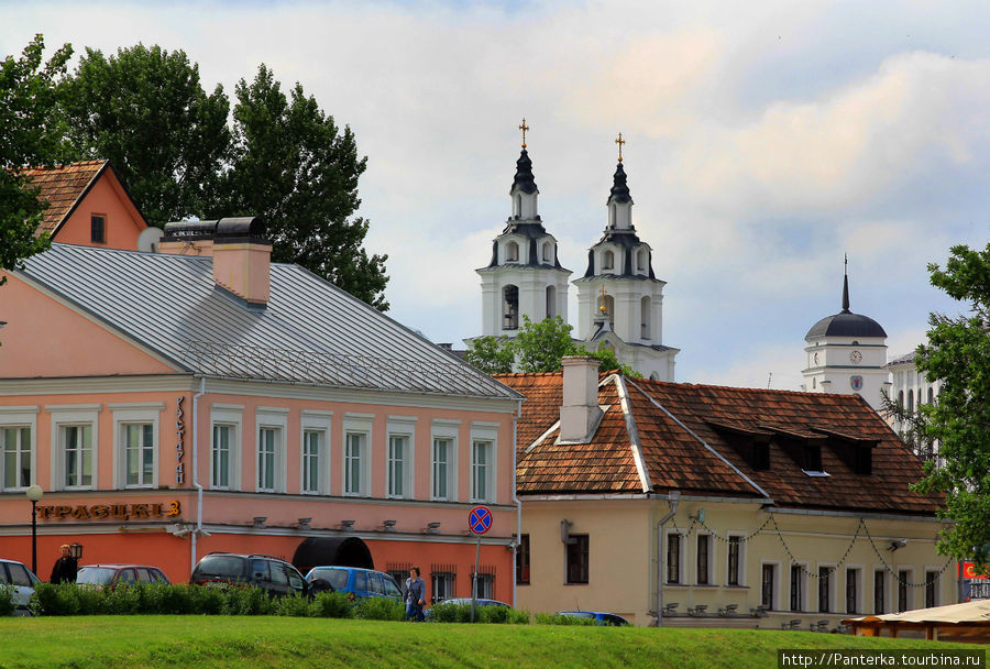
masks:
MULTIPOLYGON (((525 122, 524 122, 525 123, 525 122)), ((664 282, 653 274, 652 249, 632 224, 632 198, 619 158, 606 201, 602 238, 587 252, 578 290, 575 333, 586 349, 612 349, 619 362, 652 380, 674 381, 679 349, 663 344, 664 282)), ((543 227, 532 161, 522 151, 509 189, 512 215, 492 243, 482 279, 482 334, 515 337, 527 316, 532 322, 560 316, 568 322, 571 271, 560 264, 557 239, 543 227)))

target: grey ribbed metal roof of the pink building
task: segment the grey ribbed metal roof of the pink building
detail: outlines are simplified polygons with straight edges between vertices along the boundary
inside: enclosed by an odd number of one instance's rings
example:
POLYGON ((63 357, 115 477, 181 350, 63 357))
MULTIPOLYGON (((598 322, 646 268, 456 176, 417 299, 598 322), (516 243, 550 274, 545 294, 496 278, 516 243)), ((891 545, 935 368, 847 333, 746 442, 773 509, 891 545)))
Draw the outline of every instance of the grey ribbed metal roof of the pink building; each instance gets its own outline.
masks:
POLYGON ((261 310, 215 287, 210 257, 55 243, 19 274, 194 374, 519 397, 298 265, 271 265, 261 310))

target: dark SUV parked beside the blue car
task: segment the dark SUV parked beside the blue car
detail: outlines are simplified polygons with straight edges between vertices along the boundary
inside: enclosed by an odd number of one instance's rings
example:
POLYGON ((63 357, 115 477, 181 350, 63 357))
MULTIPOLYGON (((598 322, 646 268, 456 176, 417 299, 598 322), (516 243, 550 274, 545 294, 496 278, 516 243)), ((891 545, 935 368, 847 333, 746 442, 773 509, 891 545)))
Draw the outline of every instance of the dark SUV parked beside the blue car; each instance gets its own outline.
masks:
POLYGON ((295 567, 272 556, 211 552, 193 570, 189 582, 207 588, 254 585, 271 595, 308 594, 309 586, 295 567))

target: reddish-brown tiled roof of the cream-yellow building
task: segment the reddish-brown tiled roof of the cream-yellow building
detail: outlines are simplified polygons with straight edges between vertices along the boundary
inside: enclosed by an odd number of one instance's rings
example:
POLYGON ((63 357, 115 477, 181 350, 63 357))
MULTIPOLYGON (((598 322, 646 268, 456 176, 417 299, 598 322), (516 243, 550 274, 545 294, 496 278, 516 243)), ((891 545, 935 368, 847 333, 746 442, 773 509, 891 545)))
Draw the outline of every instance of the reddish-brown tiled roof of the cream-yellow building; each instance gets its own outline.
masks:
POLYGON ((922 476, 917 459, 856 395, 663 383, 609 374, 600 385, 598 404, 607 409, 594 438, 590 443, 563 446, 557 443, 562 375, 501 374, 496 379, 527 398, 517 430, 519 495, 680 490, 788 507, 928 516, 941 506, 939 497, 909 490, 922 476), (628 410, 618 402, 619 394, 627 395, 628 410), (756 469, 736 439, 767 445, 769 469, 756 469), (795 459, 801 448, 821 450, 827 476, 804 471, 795 459), (848 456, 857 448, 870 453, 870 474, 854 469, 848 456), (636 475, 638 453, 645 479, 636 475))

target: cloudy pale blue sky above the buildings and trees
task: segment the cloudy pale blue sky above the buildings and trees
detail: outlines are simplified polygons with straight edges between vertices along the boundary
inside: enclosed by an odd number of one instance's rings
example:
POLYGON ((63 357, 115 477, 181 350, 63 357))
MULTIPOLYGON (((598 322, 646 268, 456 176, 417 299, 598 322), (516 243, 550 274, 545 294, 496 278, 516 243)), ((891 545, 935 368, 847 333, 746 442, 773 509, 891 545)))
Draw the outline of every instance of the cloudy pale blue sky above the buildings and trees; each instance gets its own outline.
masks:
MULTIPOLYGON (((265 63, 367 155, 359 213, 391 316, 481 333, 491 242, 525 117, 540 215, 578 278, 616 165, 667 282, 676 380, 799 390, 804 334, 851 310, 889 357, 931 311, 954 244, 990 240, 990 4, 865 2, 8 2, 0 55, 41 32, 184 50, 228 96, 265 63), (771 376, 772 374, 772 376, 771 376)), ((576 290, 569 309, 576 325, 576 290)))

